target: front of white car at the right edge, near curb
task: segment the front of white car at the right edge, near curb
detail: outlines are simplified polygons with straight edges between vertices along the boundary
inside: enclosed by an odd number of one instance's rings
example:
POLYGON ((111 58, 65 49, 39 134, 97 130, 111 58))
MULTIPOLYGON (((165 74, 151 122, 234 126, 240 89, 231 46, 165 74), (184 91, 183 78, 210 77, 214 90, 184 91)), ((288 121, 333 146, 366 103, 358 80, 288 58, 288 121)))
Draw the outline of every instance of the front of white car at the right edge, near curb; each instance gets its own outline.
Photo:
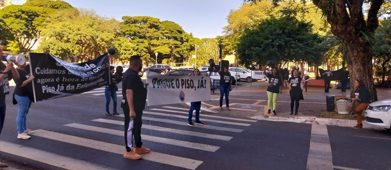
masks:
POLYGON ((366 122, 373 126, 390 130, 391 126, 391 99, 379 100, 369 104, 365 110, 366 122))

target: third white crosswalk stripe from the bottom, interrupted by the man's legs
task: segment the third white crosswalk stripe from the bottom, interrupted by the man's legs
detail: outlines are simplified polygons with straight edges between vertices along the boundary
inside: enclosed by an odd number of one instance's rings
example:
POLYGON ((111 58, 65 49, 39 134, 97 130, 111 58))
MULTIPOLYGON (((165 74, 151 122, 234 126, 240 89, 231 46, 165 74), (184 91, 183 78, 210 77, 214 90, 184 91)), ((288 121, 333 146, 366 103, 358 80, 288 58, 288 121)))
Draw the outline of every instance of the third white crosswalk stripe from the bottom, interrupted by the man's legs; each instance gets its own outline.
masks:
MULTIPOLYGON (((117 135, 117 136, 124 136, 124 131, 121 130, 113 130, 108 128, 100 128, 96 126, 89 126, 84 124, 78 124, 78 123, 71 123, 71 124, 65 124, 64 126, 77 128, 77 129, 84 129, 89 131, 95 131, 100 133, 107 133, 111 135, 117 135)), ((175 140, 175 139, 169 139, 169 138, 162 138, 162 137, 155 137, 150 135, 141 135, 141 138, 143 140, 148 140, 152 142, 162 143, 162 144, 169 144, 169 145, 176 145, 180 147, 188 147, 192 149, 198 149, 203 151, 209 151, 209 152, 215 152, 217 149, 219 149, 219 146, 213 146, 213 145, 207 145, 207 144, 199 144, 195 142, 187 142, 182 140, 175 140)))

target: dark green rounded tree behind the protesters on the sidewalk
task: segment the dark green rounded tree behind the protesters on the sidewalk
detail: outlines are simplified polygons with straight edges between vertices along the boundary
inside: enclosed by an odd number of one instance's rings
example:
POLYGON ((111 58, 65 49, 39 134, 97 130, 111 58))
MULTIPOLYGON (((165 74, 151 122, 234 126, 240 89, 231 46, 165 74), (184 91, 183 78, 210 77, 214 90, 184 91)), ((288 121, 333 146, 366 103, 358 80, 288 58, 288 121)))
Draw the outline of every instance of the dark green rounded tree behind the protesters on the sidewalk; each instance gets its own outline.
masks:
POLYGON ((268 60, 284 64, 306 61, 309 65, 321 62, 323 39, 311 33, 312 25, 296 18, 267 19, 258 29, 246 29, 238 44, 239 63, 246 66, 264 65, 268 60))

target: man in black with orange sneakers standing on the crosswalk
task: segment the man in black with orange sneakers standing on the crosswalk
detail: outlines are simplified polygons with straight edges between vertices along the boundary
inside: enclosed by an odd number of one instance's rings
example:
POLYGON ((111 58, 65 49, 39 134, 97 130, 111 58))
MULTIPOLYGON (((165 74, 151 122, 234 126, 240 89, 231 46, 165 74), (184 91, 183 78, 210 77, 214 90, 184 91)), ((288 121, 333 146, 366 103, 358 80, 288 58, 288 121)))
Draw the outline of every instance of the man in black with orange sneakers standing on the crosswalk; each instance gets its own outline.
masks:
POLYGON ((148 83, 143 82, 138 75, 143 64, 140 56, 130 57, 129 69, 122 79, 121 107, 125 115, 125 143, 126 152, 124 158, 140 159, 140 154, 149 153, 151 149, 143 147, 141 142, 141 116, 147 100, 148 83), (132 136, 135 138, 133 144, 132 136))

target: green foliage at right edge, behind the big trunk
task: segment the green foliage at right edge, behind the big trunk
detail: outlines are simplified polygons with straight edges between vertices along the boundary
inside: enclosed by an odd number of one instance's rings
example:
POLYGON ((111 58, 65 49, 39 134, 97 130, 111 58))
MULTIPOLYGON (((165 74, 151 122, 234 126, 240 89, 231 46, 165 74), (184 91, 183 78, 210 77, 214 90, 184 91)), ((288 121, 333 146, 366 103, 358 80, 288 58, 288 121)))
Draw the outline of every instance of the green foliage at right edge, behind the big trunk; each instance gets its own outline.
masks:
POLYGON ((381 21, 381 25, 375 31, 372 46, 375 58, 375 74, 381 76, 381 82, 386 82, 386 75, 391 73, 391 18, 381 21))

